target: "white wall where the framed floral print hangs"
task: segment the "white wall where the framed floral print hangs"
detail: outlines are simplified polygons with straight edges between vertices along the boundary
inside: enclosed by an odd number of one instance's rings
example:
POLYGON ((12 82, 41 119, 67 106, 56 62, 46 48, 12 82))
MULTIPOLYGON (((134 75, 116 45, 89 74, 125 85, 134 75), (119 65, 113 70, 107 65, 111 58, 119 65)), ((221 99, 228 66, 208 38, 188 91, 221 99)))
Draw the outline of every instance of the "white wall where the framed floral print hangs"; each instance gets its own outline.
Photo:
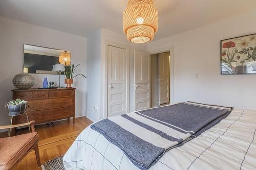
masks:
POLYGON ((256 110, 256 75, 220 75, 220 40, 255 33, 254 18, 247 13, 148 44, 148 52, 174 45, 173 102, 256 110))

